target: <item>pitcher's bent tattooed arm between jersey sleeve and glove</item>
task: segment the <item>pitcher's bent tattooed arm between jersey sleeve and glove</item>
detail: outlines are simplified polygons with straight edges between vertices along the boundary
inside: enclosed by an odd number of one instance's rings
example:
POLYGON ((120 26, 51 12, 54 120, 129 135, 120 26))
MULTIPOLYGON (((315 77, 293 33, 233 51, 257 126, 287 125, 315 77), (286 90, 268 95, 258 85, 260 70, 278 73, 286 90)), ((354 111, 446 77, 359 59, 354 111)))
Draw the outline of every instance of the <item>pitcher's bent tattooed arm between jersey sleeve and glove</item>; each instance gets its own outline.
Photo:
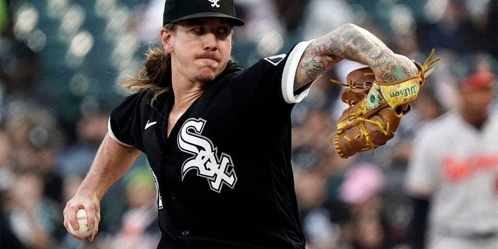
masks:
POLYGON ((418 72, 413 62, 392 52, 369 31, 345 24, 310 43, 296 71, 294 90, 317 79, 343 59, 370 66, 382 82, 405 79, 418 72))

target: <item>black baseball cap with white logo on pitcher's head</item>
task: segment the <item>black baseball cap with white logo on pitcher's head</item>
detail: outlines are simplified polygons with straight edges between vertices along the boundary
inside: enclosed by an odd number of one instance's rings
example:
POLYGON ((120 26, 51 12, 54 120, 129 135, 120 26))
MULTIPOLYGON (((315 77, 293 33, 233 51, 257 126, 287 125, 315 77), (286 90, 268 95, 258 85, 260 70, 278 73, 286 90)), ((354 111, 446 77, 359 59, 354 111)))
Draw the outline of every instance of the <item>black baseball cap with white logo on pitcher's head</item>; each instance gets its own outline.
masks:
POLYGON ((163 26, 171 22, 199 17, 222 17, 230 19, 235 26, 244 21, 235 17, 234 0, 166 0, 163 26))

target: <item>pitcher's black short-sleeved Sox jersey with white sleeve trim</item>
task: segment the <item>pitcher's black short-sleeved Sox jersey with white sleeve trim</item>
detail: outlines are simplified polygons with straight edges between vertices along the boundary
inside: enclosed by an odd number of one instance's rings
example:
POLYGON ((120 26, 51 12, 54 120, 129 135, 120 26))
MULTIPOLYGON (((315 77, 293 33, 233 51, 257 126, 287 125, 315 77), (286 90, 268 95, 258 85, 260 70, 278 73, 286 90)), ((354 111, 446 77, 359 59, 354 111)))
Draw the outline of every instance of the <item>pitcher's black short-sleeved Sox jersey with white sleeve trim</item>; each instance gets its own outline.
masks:
POLYGON ((128 96, 109 121, 119 143, 147 155, 156 182, 158 249, 304 249, 291 152, 290 113, 309 89, 293 93, 309 42, 288 55, 223 73, 172 128, 173 91, 128 96))

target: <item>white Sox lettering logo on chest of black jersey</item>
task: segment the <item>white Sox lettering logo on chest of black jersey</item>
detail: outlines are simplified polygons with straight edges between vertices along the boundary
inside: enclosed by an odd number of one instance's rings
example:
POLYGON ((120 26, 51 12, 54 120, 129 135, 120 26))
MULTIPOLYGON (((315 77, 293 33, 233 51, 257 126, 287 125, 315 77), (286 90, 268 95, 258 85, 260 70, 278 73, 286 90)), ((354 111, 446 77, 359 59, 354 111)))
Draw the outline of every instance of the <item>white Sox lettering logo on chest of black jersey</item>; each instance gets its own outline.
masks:
POLYGON ((201 135, 205 124, 203 119, 191 118, 182 125, 178 147, 194 155, 182 165, 182 181, 188 171, 197 169, 197 175, 207 178, 211 189, 220 193, 223 184, 234 188, 237 175, 230 155, 222 153, 218 158, 218 148, 209 138, 201 135))

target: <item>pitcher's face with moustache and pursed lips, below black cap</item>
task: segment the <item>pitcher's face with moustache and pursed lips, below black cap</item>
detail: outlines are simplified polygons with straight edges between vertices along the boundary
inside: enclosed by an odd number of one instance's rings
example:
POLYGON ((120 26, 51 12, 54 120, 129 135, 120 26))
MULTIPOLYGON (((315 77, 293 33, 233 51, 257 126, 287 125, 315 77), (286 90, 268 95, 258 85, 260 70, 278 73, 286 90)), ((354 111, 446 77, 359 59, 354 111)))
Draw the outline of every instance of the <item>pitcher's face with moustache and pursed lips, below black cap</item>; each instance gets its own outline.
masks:
POLYGON ((232 52, 232 34, 230 23, 212 17, 178 22, 174 31, 161 30, 173 73, 191 82, 212 81, 225 69, 232 52))

